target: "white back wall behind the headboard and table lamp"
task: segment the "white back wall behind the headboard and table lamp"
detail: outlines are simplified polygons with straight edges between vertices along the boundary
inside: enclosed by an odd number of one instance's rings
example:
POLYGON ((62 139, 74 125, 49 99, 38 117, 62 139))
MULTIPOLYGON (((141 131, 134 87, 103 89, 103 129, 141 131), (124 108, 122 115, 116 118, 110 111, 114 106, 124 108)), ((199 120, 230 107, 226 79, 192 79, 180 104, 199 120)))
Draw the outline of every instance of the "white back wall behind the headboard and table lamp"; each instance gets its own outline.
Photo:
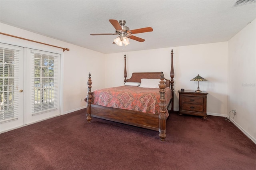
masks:
MULTIPOLYGON (((131 44, 132 45, 132 42, 131 44)), ((227 114, 227 65, 228 43, 209 43, 173 47, 174 50, 174 110, 178 110, 178 90, 196 90, 197 84, 190 81, 199 73, 208 81, 200 83, 207 91, 207 112, 210 115, 227 114)), ((127 78, 133 72, 164 72, 170 79, 172 48, 126 52, 127 78)), ((107 54, 105 57, 106 87, 124 83, 124 53, 107 54)))

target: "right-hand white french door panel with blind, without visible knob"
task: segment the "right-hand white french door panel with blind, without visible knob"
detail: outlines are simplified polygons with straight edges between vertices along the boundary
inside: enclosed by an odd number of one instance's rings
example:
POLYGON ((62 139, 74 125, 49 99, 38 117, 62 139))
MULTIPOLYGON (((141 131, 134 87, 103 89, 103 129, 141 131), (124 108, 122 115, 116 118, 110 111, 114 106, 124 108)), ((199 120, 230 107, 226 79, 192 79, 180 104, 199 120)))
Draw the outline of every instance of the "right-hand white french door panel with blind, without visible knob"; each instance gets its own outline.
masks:
POLYGON ((25 49, 25 123, 60 115, 60 54, 25 49))

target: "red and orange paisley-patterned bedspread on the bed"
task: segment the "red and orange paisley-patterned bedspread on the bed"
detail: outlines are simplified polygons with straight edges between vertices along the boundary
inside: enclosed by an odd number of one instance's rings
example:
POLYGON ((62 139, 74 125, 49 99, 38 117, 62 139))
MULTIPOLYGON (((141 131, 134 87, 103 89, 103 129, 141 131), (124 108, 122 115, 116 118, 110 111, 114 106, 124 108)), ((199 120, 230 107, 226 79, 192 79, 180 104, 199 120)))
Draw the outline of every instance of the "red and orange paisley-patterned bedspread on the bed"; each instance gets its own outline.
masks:
MULTIPOLYGON (((159 88, 134 86, 98 89, 92 93, 92 104, 159 114, 159 91, 159 88)), ((165 99, 168 104, 172 99, 172 93, 168 87, 166 87, 165 91, 165 99)), ((166 114, 169 115, 167 109, 166 114)))

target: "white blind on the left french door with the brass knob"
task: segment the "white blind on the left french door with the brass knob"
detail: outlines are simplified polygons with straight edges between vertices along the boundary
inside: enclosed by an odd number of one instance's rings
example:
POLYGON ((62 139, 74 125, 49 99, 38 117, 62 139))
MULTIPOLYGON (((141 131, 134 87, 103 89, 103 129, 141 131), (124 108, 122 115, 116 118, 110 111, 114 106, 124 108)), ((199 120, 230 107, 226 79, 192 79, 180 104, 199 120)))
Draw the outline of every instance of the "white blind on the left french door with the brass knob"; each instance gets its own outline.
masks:
POLYGON ((0 123, 18 119, 19 50, 0 47, 0 123))

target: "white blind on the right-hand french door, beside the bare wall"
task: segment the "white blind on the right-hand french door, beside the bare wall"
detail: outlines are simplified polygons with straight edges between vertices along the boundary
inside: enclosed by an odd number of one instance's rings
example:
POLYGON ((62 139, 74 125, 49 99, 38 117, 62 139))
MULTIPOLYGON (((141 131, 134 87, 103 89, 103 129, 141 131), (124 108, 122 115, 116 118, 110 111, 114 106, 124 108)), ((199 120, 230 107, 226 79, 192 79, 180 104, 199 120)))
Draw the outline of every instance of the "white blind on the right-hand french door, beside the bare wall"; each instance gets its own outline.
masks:
POLYGON ((57 109, 57 56, 32 52, 32 115, 57 109))

